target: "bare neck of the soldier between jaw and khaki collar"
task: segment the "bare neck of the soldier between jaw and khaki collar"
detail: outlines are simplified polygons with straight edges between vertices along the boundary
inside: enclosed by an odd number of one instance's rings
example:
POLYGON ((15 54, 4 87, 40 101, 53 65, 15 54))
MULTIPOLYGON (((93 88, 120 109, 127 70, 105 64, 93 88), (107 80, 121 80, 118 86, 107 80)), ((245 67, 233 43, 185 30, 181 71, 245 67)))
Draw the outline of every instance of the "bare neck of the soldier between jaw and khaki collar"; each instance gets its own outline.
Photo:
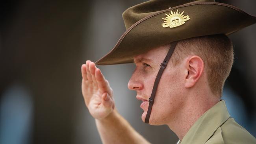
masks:
POLYGON ((195 124, 195 122, 208 109, 213 107, 219 98, 217 96, 208 95, 189 95, 184 102, 184 108, 181 109, 176 116, 173 116, 173 121, 167 124, 169 128, 176 133, 180 140, 186 135, 187 131, 195 124))

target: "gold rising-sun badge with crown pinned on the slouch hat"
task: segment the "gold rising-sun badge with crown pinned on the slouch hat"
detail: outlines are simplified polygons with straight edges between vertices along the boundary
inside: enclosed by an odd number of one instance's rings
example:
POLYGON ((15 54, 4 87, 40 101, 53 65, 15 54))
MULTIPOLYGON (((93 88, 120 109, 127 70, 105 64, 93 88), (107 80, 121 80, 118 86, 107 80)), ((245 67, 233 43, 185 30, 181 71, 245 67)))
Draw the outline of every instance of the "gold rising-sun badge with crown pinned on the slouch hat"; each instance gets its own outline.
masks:
POLYGON ((167 28, 167 27, 174 28, 174 27, 180 26, 182 24, 185 24, 185 21, 189 20, 190 18, 188 15, 184 16, 183 13, 184 13, 184 11, 182 13, 180 13, 180 12, 178 13, 178 9, 177 9, 176 13, 172 12, 172 11, 171 11, 171 14, 169 13, 169 15, 165 13, 165 15, 167 17, 162 18, 163 20, 165 20, 164 21, 165 23, 162 24, 163 27, 164 28, 167 28))

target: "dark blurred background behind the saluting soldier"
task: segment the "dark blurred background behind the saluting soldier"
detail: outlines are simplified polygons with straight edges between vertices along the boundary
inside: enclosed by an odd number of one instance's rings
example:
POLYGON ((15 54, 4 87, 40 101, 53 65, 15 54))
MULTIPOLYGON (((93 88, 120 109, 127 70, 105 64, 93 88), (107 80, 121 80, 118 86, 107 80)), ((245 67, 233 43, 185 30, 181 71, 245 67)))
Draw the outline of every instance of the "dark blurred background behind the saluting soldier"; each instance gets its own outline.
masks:
MULTIPOLYGON (((100 144, 81 93, 80 66, 96 61, 125 31, 122 12, 145 0, 2 0, 0 4, 0 144, 100 144)), ((216 0, 256 15, 255 0, 216 0)), ((168 8, 168 6, 167 6, 168 8)), ((221 13, 220 13, 221 15, 221 13)), ((256 25, 238 31, 223 99, 256 137, 256 25)), ((150 142, 174 144, 167 126, 141 120, 127 83, 133 64, 99 66, 116 107, 150 142)))

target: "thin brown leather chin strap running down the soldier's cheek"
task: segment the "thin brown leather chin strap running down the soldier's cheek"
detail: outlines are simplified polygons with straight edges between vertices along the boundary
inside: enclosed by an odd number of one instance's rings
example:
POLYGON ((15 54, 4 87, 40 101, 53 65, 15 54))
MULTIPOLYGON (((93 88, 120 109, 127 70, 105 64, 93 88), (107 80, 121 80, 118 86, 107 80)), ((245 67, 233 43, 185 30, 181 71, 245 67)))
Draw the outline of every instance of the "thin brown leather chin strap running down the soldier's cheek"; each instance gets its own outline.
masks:
POLYGON ((158 87, 158 83, 161 79, 161 76, 163 74, 163 70, 165 69, 165 67, 167 66, 167 63, 168 61, 170 60, 172 54, 173 54, 173 51, 176 47, 176 44, 177 44, 177 41, 175 42, 172 42, 171 43, 171 47, 167 53, 167 55, 165 56, 165 59, 163 60, 163 63, 161 63, 161 68, 160 70, 158 71, 158 74, 156 76, 156 79, 155 79, 155 82, 154 82, 154 86, 153 86, 153 90, 152 90, 152 93, 151 93, 151 96, 150 98, 148 99, 148 102, 149 102, 149 105, 148 105, 148 112, 147 112, 147 116, 145 118, 145 123, 148 124, 149 122, 149 117, 150 117, 150 113, 151 113, 151 110, 152 110, 152 106, 153 106, 153 103, 154 103, 154 98, 155 98, 155 95, 156 95, 156 89, 158 87))

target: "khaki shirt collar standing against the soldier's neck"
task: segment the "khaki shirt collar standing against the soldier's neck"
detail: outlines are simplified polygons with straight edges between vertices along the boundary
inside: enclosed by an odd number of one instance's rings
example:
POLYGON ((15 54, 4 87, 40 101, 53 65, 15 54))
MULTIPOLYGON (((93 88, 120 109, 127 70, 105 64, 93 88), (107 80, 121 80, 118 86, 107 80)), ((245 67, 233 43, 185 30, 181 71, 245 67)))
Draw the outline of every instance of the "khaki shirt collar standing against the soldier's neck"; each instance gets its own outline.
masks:
POLYGON ((229 117, 226 104, 224 100, 221 100, 198 118, 180 144, 205 143, 229 117))

